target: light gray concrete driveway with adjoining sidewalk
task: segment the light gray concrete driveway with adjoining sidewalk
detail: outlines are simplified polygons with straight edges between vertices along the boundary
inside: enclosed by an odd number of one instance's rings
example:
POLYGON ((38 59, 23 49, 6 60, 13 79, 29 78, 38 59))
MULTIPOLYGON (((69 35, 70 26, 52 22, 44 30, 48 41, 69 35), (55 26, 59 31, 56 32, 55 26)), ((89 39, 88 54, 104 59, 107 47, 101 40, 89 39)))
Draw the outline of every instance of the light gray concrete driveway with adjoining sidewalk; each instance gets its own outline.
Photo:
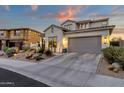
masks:
POLYGON ((53 87, 124 86, 124 80, 96 74, 100 54, 69 53, 41 63, 0 59, 0 67, 53 87))

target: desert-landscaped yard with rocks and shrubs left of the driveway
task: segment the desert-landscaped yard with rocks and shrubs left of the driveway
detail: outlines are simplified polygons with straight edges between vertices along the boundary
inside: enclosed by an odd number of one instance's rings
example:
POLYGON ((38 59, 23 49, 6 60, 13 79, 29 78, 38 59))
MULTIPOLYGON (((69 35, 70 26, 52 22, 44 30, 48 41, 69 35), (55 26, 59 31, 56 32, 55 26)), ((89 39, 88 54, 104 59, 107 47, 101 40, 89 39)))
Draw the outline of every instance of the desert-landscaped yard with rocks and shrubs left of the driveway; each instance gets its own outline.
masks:
POLYGON ((0 51, 0 58, 21 60, 27 62, 42 62, 45 59, 55 56, 52 51, 44 50, 43 48, 28 48, 16 50, 16 48, 5 47, 0 51))

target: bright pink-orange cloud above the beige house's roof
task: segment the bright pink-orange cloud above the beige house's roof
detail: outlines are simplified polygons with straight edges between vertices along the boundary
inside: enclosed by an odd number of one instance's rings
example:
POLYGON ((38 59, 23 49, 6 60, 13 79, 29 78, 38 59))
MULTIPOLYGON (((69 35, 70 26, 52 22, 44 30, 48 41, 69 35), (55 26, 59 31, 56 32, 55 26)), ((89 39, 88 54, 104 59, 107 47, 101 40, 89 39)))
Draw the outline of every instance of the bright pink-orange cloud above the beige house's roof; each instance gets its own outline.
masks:
POLYGON ((67 19, 76 19, 77 13, 82 11, 84 8, 86 8, 86 6, 68 6, 57 13, 56 19, 59 21, 65 21, 67 19))

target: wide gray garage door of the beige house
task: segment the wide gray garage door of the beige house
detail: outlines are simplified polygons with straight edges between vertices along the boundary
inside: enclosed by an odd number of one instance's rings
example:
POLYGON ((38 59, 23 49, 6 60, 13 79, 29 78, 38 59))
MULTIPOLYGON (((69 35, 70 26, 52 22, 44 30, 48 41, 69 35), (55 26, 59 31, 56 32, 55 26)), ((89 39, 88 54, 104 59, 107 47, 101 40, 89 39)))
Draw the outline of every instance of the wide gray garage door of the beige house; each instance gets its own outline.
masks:
POLYGON ((101 37, 78 37, 69 38, 69 52, 100 53, 101 37))

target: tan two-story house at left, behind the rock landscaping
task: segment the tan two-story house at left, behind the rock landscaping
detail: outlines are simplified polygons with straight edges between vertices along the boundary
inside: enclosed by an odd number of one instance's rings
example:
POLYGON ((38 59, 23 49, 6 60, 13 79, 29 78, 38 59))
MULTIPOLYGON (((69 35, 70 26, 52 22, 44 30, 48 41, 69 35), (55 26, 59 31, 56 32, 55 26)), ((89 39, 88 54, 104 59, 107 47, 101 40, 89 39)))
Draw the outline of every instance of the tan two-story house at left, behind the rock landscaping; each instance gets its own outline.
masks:
POLYGON ((42 44, 43 34, 30 28, 0 29, 0 50, 4 47, 30 47, 42 44))

